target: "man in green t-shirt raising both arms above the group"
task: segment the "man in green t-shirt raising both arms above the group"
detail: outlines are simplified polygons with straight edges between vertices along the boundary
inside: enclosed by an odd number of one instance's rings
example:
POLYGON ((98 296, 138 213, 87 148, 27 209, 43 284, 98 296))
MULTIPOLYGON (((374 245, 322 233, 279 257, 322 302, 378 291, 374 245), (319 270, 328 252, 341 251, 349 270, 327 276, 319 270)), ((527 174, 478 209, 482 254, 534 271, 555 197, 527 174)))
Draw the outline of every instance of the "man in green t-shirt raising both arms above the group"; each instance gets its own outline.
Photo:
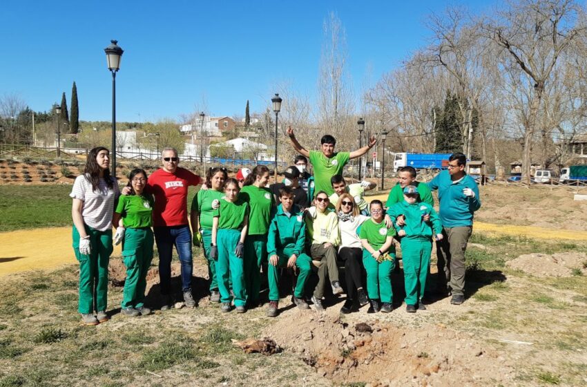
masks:
POLYGON ((296 140, 294 129, 291 129, 291 126, 287 129, 287 135, 289 135, 289 140, 291 140, 294 149, 300 155, 309 158, 312 167, 314 167, 314 179, 316 180, 315 191, 325 191, 328 196, 334 193, 330 178, 334 175, 342 175, 343 169, 349 160, 364 155, 376 143, 375 136, 372 136, 369 138, 369 143, 361 149, 352 152, 335 153, 334 146, 336 145, 336 140, 327 134, 320 140, 320 151, 308 151, 296 140))

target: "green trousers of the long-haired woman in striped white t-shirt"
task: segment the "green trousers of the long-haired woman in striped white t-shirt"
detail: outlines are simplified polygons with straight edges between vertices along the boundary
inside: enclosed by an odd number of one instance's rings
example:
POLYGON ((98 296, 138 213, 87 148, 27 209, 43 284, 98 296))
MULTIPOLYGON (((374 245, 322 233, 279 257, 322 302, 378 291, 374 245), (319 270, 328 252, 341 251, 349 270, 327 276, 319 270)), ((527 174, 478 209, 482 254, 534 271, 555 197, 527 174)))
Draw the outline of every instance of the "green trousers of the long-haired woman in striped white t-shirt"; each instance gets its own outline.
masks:
POLYGON ((108 262, 112 254, 112 230, 98 231, 88 225, 90 255, 79 252, 79 232, 73 226, 73 252, 79 261, 79 305, 77 311, 90 314, 106 311, 108 304, 108 262))

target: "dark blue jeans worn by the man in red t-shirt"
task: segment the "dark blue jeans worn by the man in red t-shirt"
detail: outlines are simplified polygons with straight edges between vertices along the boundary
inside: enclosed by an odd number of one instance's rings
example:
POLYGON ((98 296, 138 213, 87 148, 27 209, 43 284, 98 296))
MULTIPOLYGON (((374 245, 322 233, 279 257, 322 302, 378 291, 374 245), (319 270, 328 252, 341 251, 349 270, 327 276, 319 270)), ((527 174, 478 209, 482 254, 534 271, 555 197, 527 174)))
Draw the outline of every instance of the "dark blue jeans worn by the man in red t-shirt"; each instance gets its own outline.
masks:
POLYGON ((182 263, 182 290, 191 291, 193 263, 191 257, 191 232, 189 225, 153 227, 155 243, 159 250, 159 279, 161 294, 171 294, 171 254, 173 245, 182 263))

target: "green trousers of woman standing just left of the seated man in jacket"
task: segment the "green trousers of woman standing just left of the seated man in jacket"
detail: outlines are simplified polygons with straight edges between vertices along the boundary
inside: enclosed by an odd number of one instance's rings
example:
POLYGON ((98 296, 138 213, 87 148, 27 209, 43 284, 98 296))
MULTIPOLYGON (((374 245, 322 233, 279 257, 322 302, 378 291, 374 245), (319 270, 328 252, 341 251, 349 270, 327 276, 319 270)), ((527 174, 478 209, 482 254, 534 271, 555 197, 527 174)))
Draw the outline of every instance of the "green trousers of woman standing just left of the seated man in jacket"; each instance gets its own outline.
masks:
POLYGON ((267 263, 267 235, 248 235, 244 240, 244 287, 247 302, 259 302, 261 265, 267 263))

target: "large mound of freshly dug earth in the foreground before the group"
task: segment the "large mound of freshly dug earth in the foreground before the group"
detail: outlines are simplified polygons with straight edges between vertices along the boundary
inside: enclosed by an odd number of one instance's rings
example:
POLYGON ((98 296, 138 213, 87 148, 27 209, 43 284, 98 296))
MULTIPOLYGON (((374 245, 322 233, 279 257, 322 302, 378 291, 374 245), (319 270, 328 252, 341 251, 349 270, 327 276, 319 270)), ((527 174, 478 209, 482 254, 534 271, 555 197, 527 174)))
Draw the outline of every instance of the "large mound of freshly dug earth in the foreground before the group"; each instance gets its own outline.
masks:
POLYGON ((514 377, 499 352, 439 325, 405 329, 371 321, 369 332, 367 323, 345 323, 338 314, 294 314, 271 325, 264 336, 336 383, 510 385, 514 377))

